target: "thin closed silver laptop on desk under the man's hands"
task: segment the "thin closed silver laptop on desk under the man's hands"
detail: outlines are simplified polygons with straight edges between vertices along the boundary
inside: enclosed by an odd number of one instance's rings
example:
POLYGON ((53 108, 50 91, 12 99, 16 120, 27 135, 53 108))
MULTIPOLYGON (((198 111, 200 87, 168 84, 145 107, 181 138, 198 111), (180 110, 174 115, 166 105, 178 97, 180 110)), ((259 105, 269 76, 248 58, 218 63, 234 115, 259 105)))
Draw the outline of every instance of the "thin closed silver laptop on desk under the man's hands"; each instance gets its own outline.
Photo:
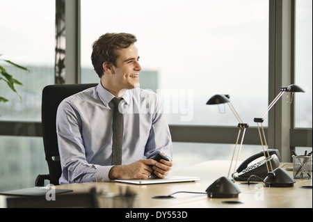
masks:
POLYGON ((129 184, 166 184, 173 182, 195 182, 195 181, 200 181, 200 177, 168 176, 164 179, 149 177, 147 180, 125 180, 125 179, 114 180, 114 182, 124 182, 129 184))

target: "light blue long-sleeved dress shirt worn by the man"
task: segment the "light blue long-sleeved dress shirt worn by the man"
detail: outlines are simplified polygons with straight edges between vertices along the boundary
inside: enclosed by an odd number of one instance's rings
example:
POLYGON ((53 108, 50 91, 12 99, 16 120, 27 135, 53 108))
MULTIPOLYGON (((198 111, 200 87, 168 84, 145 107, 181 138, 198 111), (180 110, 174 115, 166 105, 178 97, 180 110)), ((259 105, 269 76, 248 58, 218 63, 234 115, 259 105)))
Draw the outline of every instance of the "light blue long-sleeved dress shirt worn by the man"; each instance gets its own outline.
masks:
MULTIPOLYGON (((109 182, 112 161, 114 95, 102 84, 67 97, 58 106, 56 131, 62 175, 60 184, 109 182)), ((172 160, 172 141, 161 97, 141 88, 127 90, 119 110, 124 114, 122 165, 163 152, 172 160)))

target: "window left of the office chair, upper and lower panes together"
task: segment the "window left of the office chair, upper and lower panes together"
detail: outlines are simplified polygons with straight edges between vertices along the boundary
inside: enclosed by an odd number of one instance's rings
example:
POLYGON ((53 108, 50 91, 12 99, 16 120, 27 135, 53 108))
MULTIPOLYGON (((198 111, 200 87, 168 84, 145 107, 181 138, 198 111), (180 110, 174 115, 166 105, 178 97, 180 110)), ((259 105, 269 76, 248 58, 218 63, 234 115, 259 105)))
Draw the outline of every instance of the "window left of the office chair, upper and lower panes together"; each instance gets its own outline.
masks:
MULTIPOLYGON (((30 70, 0 61, 23 84, 16 86, 21 101, 0 81, 0 96, 9 100, 0 103, 0 125, 40 122, 42 88, 54 84, 55 1, 1 1, 0 19, 0 58, 30 70)), ((0 191, 33 187, 37 175, 48 172, 41 137, 0 136, 0 144, 0 191)))

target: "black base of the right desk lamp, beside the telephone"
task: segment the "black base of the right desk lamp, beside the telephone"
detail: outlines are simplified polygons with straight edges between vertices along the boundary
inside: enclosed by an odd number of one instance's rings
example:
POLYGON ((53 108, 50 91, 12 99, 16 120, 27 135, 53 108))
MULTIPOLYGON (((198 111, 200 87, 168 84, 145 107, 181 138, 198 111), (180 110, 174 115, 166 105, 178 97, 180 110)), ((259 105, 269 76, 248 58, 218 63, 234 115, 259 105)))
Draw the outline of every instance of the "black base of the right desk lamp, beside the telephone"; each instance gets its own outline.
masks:
POLYGON ((266 187, 294 187, 295 182, 294 178, 283 168, 275 168, 264 179, 266 187))

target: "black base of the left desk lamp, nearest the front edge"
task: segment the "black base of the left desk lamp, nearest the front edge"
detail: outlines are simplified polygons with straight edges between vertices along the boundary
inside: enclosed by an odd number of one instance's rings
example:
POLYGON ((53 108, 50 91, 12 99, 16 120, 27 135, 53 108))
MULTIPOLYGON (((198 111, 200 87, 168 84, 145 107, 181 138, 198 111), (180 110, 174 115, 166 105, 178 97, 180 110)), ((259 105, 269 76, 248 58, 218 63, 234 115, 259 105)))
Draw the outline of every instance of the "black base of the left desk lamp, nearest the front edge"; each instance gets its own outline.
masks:
POLYGON ((241 191, 236 187, 234 182, 226 177, 220 177, 207 190, 209 198, 237 198, 241 191))

